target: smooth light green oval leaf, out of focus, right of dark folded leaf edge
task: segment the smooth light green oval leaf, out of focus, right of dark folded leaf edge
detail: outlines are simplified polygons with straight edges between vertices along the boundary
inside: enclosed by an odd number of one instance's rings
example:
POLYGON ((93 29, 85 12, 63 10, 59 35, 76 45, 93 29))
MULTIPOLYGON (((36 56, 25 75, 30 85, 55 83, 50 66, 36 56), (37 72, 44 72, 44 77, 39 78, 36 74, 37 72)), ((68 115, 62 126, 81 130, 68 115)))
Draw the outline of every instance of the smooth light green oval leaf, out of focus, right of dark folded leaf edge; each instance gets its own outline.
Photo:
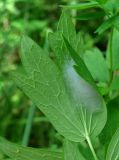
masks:
POLYGON ((98 82, 109 81, 109 71, 103 53, 97 48, 89 50, 84 54, 84 62, 92 74, 94 80, 98 82))

